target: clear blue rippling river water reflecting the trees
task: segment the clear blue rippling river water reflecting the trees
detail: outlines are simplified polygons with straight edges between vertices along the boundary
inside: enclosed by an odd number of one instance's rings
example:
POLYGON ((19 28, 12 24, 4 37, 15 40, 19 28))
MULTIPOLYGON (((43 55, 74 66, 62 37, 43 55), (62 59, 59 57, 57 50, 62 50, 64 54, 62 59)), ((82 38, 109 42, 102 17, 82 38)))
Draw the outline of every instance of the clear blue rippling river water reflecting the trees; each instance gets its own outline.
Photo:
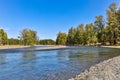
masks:
POLYGON ((120 49, 99 47, 29 52, 14 50, 0 51, 0 80, 67 80, 91 65, 120 55, 120 49))

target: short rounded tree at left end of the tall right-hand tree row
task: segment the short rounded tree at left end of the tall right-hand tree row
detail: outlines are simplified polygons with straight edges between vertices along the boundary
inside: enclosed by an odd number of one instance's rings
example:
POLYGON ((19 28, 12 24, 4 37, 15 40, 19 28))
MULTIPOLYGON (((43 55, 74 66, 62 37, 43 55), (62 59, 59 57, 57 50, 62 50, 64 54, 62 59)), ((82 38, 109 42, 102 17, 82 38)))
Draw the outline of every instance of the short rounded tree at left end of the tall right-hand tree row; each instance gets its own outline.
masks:
POLYGON ((57 45, 66 45, 67 42, 67 34, 59 32, 56 39, 57 45))

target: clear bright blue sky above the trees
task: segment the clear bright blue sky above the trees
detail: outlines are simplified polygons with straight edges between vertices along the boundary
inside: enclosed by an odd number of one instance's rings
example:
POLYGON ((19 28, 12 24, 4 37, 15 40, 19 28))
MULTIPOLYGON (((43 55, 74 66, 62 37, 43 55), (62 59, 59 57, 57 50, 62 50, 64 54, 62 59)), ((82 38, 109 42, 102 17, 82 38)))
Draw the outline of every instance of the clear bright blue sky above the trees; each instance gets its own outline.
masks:
POLYGON ((40 39, 56 39, 80 23, 106 17, 106 9, 119 0, 0 0, 0 28, 17 38, 24 28, 36 30, 40 39))

